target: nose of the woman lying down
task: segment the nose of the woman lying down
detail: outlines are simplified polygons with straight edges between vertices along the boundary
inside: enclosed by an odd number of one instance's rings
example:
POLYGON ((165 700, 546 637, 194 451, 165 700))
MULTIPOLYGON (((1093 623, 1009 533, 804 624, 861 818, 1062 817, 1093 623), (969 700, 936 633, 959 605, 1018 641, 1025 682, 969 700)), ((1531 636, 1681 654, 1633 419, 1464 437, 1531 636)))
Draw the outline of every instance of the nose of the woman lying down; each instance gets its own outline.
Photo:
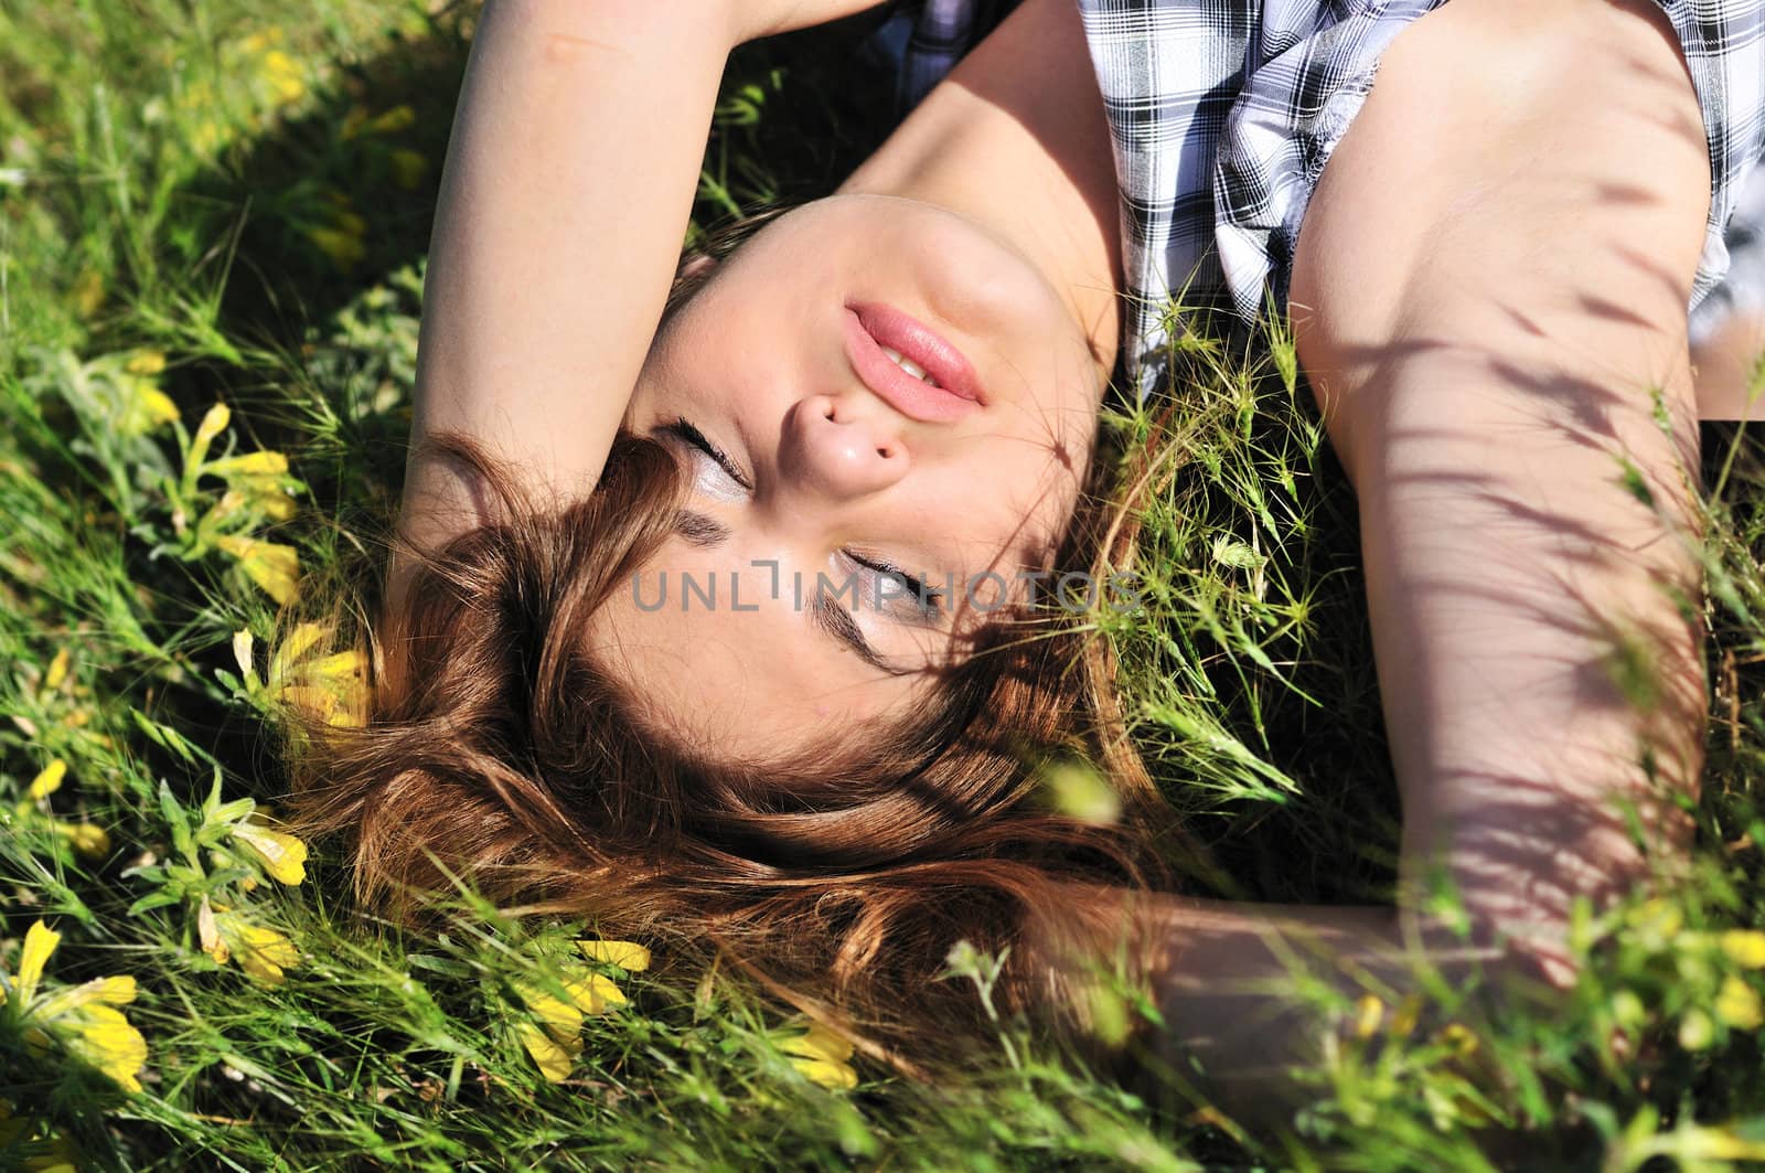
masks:
POLYGON ((808 396, 791 406, 782 472, 826 496, 877 493, 907 475, 909 458, 891 413, 861 396, 808 396))

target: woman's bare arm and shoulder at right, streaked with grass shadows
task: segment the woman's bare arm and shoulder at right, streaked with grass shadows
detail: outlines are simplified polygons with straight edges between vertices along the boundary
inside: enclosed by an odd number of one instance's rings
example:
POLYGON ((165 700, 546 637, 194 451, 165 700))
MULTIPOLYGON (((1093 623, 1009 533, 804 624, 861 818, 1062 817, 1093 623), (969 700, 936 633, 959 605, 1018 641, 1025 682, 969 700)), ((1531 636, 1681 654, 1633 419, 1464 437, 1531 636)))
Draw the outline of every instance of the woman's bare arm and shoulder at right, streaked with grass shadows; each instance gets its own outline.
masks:
POLYGON ((1573 901, 1645 871, 1633 832, 1689 832, 1707 200, 1652 4, 1453 0, 1387 51, 1294 265, 1361 495, 1407 896, 1444 867, 1558 979, 1573 901))

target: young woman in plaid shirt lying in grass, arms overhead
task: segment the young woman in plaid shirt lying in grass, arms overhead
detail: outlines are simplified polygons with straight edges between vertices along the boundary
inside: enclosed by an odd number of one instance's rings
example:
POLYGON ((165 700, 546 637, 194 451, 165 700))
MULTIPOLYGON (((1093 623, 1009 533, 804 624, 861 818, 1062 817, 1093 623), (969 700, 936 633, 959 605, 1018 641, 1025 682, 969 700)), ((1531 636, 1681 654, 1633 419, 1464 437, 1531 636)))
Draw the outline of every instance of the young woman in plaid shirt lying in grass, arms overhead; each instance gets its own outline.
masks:
POLYGON ((1756 5, 1024 0, 833 196, 676 269, 731 48, 863 7, 485 7, 374 715, 305 760, 307 825, 367 901, 464 873, 927 1049, 978 1014, 934 982, 962 938, 1052 1016, 1128 942, 1220 1079, 1297 1053, 1255 986, 1294 942, 1345 984, 1405 942, 1571 980, 1573 903, 1689 834, 1696 420, 1739 380, 1687 311, 1758 155, 1721 26, 1756 5), (1131 594, 1098 412, 1117 369, 1156 394, 1184 284, 1292 313, 1359 493, 1391 908, 1149 892, 1175 830, 1036 578, 1131 594), (1040 798, 1073 753, 1114 825, 1040 798))

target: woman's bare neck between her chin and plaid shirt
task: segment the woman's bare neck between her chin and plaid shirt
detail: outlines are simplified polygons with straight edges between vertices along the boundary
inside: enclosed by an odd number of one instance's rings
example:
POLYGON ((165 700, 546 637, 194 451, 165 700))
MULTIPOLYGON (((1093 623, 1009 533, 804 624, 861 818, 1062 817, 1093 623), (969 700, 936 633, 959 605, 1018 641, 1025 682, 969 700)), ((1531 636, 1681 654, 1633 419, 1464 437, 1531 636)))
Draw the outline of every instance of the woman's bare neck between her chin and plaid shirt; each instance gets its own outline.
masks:
POLYGON ((1115 166, 1071 0, 1025 0, 860 166, 844 194, 923 200, 1017 247, 1115 366, 1115 166))

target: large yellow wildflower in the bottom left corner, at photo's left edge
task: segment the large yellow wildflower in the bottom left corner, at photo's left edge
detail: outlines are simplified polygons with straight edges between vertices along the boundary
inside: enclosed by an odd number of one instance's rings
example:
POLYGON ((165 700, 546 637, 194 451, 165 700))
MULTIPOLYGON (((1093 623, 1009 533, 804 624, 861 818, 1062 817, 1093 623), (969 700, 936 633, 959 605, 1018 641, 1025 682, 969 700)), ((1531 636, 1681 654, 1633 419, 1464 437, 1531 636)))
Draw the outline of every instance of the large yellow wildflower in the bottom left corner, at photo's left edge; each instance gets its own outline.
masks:
POLYGON ((0 980, 0 1005, 26 1042, 42 1048, 56 1041, 69 1055, 97 1067, 125 1092, 139 1092, 146 1039, 116 1007, 134 1002, 132 977, 99 977, 79 986, 39 995, 42 970, 62 935, 42 920, 25 933, 18 973, 0 980))

